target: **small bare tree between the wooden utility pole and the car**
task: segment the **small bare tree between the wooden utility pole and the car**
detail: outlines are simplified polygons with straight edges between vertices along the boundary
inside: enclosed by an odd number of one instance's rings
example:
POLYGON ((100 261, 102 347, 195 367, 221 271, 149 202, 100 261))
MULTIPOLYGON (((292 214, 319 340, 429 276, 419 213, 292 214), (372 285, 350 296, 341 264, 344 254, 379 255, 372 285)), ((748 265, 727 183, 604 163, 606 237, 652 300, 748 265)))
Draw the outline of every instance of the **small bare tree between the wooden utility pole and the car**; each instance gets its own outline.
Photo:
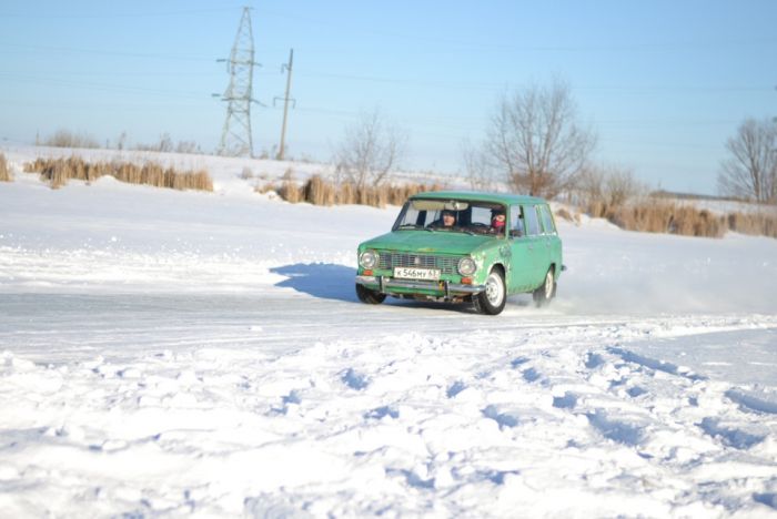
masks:
POLYGON ((404 153, 406 136, 385 122, 380 110, 362 113, 345 129, 335 151, 337 174, 359 190, 385 183, 404 153))

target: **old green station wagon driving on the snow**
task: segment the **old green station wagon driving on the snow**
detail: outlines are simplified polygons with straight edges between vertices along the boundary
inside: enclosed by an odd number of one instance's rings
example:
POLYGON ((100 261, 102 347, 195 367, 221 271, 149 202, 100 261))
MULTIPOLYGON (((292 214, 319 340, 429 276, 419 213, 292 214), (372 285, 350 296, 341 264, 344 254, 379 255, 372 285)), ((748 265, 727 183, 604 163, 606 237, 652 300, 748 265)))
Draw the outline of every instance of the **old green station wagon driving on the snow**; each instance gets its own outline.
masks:
POLYGON ((507 296, 556 295, 562 241, 547 202, 534 196, 440 191, 412 196, 391 233, 359 245, 356 295, 472 302, 500 314, 507 296))

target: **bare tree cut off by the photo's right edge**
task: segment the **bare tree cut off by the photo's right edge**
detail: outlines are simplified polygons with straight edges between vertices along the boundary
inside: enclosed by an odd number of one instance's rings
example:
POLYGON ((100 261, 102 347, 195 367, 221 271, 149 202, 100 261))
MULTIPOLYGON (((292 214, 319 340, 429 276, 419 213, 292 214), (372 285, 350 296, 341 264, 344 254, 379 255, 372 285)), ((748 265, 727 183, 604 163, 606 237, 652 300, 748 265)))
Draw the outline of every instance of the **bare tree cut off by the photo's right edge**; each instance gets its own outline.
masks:
POLYGON ((718 174, 720 194, 777 202, 777 122, 748 119, 726 142, 729 156, 718 174))

